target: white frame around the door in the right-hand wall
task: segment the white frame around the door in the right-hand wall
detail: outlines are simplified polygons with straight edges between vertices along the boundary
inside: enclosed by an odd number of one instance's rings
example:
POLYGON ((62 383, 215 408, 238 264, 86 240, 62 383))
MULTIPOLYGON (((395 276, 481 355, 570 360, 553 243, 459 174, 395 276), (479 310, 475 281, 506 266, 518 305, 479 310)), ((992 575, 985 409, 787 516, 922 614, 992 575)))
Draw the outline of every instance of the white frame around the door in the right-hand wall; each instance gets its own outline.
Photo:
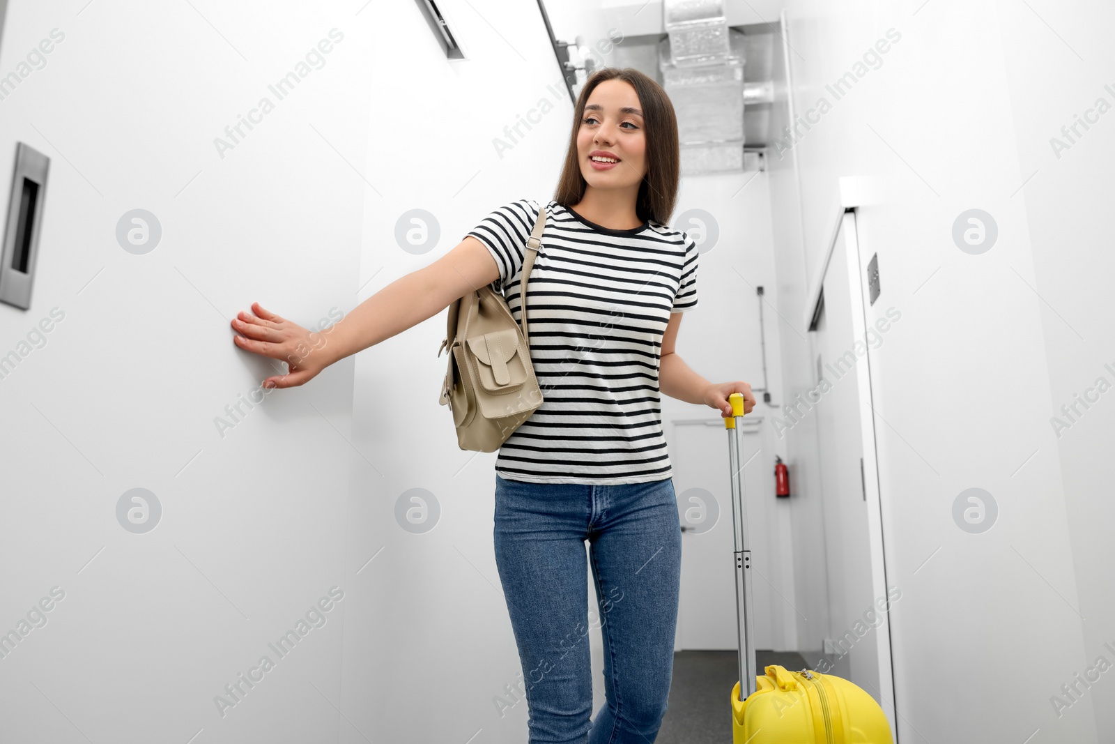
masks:
MULTIPOLYGON (((866 303, 864 292, 864 264, 860 257, 860 240, 856 232, 857 207, 860 206, 861 190, 856 178, 841 178, 837 194, 838 205, 833 211, 832 221, 826 230, 825 250, 818 263, 818 271, 809 284, 806 307, 804 308, 805 327, 813 331, 816 320, 824 302, 824 280, 828 271, 847 271, 849 287, 852 294, 852 325, 853 334, 857 338, 866 339, 866 318, 870 306, 866 303), (841 229, 843 228, 843 233, 841 229), (843 267, 831 265, 832 255, 836 248, 836 240, 844 235, 846 264, 843 267)), ((867 502, 867 537, 869 552, 871 555, 871 587, 872 596, 888 597, 886 582, 886 551, 883 534, 882 519, 882 490, 879 481, 879 453, 876 450, 874 399, 872 386, 872 354, 873 349, 867 345, 865 354, 865 374, 857 374, 859 403, 860 403, 860 432, 862 435, 863 450, 863 480, 864 491, 867 502)), ((899 728, 895 723, 898 715, 894 696, 894 660, 891 653, 891 619, 892 611, 883 613, 883 622, 874 634, 875 648, 879 658, 879 696, 882 698, 882 708, 891 725, 891 732, 898 743, 899 728), (884 631, 885 630, 885 631, 884 631)))

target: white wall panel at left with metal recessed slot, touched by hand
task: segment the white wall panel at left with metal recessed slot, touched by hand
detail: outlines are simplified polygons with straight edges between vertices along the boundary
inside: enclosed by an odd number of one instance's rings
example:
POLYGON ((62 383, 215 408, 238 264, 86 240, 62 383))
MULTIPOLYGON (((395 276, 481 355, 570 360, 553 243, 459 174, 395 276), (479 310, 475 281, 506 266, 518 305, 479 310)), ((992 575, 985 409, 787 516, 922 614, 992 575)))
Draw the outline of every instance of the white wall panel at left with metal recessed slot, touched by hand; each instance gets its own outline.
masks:
POLYGON ((253 300, 304 326, 351 307, 366 186, 330 145, 363 164, 372 15, 13 0, 0 75, 55 28, 45 66, 0 100, 6 210, 16 142, 50 157, 32 305, 0 305, 0 354, 21 357, 0 379, 0 631, 65 596, 0 659, 0 737, 320 741, 351 589, 353 365, 249 409, 271 369, 229 323, 253 300), (333 27, 324 66, 222 158, 214 137, 333 27), (116 239, 135 207, 162 225, 144 255, 116 239), (222 436, 229 405, 242 415, 222 436), (145 534, 117 520, 134 487, 162 505, 145 534), (271 651, 334 584, 320 627, 271 651), (214 697, 264 655, 274 668, 222 717, 214 697))

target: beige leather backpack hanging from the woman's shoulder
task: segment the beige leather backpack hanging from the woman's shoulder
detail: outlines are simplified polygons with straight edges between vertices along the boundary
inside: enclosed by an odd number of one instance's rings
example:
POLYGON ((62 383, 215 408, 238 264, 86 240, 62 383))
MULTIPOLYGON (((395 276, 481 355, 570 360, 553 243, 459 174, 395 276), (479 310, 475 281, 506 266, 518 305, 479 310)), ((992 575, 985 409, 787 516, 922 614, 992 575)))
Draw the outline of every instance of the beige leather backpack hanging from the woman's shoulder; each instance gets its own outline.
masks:
POLYGON ((546 223, 545 204, 526 239, 518 293, 522 329, 507 301, 493 288, 481 287, 449 306, 445 340, 449 363, 440 404, 449 405, 462 450, 495 452, 542 405, 534 378, 526 320, 526 284, 546 223), (449 339, 453 342, 449 344, 449 339))

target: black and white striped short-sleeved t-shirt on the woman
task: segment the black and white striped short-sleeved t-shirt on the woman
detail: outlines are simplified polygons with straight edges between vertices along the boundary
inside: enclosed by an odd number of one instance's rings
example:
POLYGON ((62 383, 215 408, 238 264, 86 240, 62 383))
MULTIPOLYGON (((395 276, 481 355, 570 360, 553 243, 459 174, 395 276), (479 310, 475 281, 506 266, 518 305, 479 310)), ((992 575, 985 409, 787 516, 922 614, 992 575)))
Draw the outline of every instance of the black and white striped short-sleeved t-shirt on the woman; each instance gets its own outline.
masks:
MULTIPOLYGON (((520 276, 539 203, 521 199, 469 235, 500 265, 521 319, 520 276)), ((530 483, 670 477, 658 370, 671 312, 697 306, 697 245, 653 221, 611 230, 549 202, 527 289, 531 361, 543 403, 500 448, 496 473, 530 483)))

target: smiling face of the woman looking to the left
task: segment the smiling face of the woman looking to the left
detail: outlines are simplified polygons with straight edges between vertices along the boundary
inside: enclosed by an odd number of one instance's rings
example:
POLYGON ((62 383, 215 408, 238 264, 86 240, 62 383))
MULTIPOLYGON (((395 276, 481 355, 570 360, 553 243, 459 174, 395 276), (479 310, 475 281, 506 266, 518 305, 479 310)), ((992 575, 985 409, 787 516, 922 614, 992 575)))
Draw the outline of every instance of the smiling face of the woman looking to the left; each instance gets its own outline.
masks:
POLYGON ((590 187, 638 193, 647 173, 647 136, 639 96, 630 83, 604 80, 592 89, 576 133, 576 152, 590 187), (594 162, 594 155, 619 162, 594 162))

